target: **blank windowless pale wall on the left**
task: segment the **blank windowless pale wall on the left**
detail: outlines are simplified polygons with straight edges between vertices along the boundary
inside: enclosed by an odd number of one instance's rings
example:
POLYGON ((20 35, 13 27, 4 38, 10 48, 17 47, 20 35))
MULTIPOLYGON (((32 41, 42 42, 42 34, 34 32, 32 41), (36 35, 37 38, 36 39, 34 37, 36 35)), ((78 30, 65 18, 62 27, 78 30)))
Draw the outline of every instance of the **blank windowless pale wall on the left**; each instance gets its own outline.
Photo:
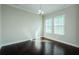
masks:
POLYGON ((34 39, 40 28, 39 15, 2 5, 2 45, 34 39))

